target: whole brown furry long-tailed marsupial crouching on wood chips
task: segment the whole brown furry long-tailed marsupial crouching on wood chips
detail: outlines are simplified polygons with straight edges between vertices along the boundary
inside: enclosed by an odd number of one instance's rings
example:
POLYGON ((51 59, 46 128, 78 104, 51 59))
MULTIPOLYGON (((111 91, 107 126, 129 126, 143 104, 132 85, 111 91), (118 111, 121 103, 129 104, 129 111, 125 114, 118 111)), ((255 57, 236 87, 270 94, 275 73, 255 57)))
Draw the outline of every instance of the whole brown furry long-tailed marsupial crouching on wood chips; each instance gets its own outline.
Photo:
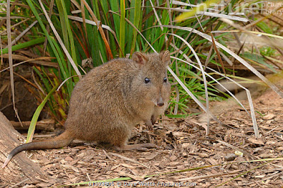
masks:
POLYGON ((171 86, 163 78, 167 78, 169 62, 168 51, 135 52, 132 59, 113 59, 91 70, 76 83, 64 133, 50 141, 16 147, 2 168, 18 152, 61 148, 74 139, 110 143, 120 150, 154 147, 152 143, 127 145, 127 140, 136 124, 145 122, 152 129, 166 110, 171 86), (145 83, 145 78, 150 83, 145 83))

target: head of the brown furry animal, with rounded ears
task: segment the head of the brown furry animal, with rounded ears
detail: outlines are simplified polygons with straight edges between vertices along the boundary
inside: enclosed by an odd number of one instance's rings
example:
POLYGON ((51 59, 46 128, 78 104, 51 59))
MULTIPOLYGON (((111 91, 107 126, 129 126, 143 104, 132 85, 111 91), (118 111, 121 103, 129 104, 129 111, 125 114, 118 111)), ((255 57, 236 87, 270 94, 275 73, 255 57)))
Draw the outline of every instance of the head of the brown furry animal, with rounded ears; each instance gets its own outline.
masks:
POLYGON ((167 66, 171 61, 169 51, 159 54, 134 52, 132 60, 138 70, 132 81, 132 91, 156 107, 167 106, 171 91, 167 76, 167 66))

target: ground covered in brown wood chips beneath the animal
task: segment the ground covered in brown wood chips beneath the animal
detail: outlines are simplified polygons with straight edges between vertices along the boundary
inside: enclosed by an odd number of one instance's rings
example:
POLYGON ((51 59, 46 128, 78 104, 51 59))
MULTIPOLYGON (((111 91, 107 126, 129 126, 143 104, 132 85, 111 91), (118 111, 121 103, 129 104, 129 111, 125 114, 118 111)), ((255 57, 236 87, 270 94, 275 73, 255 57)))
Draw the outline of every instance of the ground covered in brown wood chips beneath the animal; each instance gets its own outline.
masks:
MULTIPOLYGON (((129 143, 151 141, 159 146, 146 152, 117 152, 108 146, 81 141, 74 141, 62 149, 28 152, 30 159, 54 179, 40 180, 37 184, 23 182, 18 186, 57 187, 121 178, 104 185, 216 187, 223 184, 221 187, 282 187, 283 98, 267 90, 254 99, 260 139, 255 139, 253 124, 246 111, 238 105, 225 107, 219 104, 212 103, 214 108, 221 108, 214 113, 229 127, 211 122, 209 136, 205 136, 205 123, 200 123, 198 116, 186 119, 163 117, 155 124, 154 131, 148 131, 144 125, 136 127, 129 143), (267 158, 281 160, 245 162, 267 158), (183 172, 175 172, 178 170, 183 172)), ((248 102, 243 101, 243 104, 249 111, 248 102)), ((47 135, 41 136, 46 139, 47 135)), ((0 187, 7 185, 2 184, 0 187)), ((101 187, 103 184, 100 182, 93 185, 101 187)))

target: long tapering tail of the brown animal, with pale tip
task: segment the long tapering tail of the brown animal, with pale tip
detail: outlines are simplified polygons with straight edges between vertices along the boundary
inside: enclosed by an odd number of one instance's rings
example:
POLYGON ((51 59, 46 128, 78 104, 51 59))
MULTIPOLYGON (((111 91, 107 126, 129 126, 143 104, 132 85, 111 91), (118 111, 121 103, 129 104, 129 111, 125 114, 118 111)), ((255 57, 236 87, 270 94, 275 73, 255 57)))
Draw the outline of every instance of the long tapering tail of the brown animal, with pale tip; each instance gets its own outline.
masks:
POLYGON ((47 141, 23 143, 22 145, 14 148, 11 151, 11 153, 8 154, 8 157, 6 158, 5 163, 2 165, 2 168, 5 168, 6 165, 9 163, 9 161, 11 160, 11 158, 13 158, 14 155, 16 155, 17 153, 20 153, 21 151, 62 148, 64 146, 68 146, 69 143, 71 143, 71 141, 73 140, 74 138, 71 137, 69 132, 64 131, 62 134, 60 134, 54 139, 50 139, 47 141))

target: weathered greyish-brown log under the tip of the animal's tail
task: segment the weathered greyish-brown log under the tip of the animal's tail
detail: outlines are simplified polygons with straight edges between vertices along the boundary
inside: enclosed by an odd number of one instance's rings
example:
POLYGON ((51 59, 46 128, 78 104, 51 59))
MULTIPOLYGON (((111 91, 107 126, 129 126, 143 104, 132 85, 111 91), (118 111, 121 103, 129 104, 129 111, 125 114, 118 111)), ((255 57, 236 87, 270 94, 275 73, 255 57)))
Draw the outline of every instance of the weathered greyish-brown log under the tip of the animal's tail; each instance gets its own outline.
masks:
POLYGON ((24 141, 23 136, 13 129, 12 124, 0 112, 0 183, 18 184, 37 184, 40 180, 50 179, 45 175, 45 172, 40 169, 40 166, 33 163, 25 153, 21 152, 14 156, 13 159, 8 163, 6 168, 1 168, 6 156, 11 152, 13 148, 20 144, 18 139, 24 141))

